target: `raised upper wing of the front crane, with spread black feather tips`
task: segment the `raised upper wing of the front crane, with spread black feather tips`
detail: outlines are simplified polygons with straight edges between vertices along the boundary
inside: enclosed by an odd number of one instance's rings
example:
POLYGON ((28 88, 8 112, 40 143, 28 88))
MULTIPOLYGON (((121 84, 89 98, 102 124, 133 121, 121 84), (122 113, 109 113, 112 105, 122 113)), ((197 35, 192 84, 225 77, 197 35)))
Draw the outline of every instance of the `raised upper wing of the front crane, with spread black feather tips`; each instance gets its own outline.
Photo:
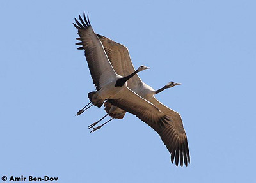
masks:
POLYGON ((77 40, 81 41, 76 43, 76 45, 81 45, 77 49, 84 50, 93 83, 98 91, 106 81, 115 78, 116 73, 109 62, 102 43, 92 29, 88 15, 88 20, 86 20, 84 13, 83 18, 79 15, 80 22, 75 18, 76 24, 74 26, 79 34, 77 40))

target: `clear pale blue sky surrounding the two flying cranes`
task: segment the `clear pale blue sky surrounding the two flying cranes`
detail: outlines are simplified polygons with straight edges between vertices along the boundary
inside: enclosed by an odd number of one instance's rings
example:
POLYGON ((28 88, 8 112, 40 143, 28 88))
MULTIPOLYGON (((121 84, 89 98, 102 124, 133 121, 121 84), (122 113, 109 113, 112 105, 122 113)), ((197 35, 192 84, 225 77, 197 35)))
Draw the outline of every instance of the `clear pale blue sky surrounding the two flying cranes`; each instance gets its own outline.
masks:
POLYGON ((255 1, 3 1, 0 7, 0 177, 58 182, 255 181, 255 1), (124 44, 157 99, 182 115, 191 164, 177 168, 155 131, 105 115, 74 17, 124 44))

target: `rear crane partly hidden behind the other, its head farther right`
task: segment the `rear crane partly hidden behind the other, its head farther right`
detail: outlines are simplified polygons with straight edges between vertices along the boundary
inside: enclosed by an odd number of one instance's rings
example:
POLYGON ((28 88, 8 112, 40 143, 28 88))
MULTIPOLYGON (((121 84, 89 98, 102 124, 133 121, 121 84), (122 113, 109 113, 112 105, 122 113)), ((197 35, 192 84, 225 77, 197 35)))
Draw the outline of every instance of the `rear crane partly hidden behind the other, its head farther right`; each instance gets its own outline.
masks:
MULTIPOLYGON (((134 71, 134 66, 131 61, 131 57, 129 55, 129 50, 124 45, 121 45, 120 43, 116 43, 115 41, 106 38, 105 36, 101 36, 97 34, 100 41, 102 42, 102 45, 104 46, 104 49, 106 51, 106 54, 108 55, 109 61, 111 62, 111 65, 113 66, 116 73, 119 75, 126 75, 127 73, 131 73, 134 71)), ((168 115, 170 117, 170 121, 168 121, 168 124, 166 124, 166 129, 172 129, 168 132, 165 131, 164 135, 161 135, 161 138, 168 148, 169 152, 172 154, 172 145, 168 143, 168 138, 177 138, 175 140, 178 140, 179 143, 183 143, 184 150, 186 149, 186 153, 188 162, 190 162, 190 156, 189 156, 189 148, 188 148, 188 140, 186 136, 186 132, 183 128, 182 119, 180 117, 180 114, 175 112, 174 110, 168 108, 167 106, 163 105, 161 102, 159 102, 155 98, 155 94, 158 94, 159 92, 164 91, 164 89, 168 89, 170 87, 173 87, 175 85, 180 85, 180 83, 175 82, 169 82, 168 84, 164 85, 161 89, 154 90, 149 85, 145 84, 138 75, 131 78, 131 80, 127 81, 127 85, 129 89, 136 92, 136 94, 140 95, 142 98, 147 99, 147 101, 150 101, 152 104, 154 104, 161 112, 163 112, 165 115, 168 115), (171 135, 171 134, 174 135, 171 135), (165 137, 164 137, 165 136, 165 137)), ((108 108, 116 106, 108 105, 108 108)), ((148 124, 150 126, 150 124, 148 124)), ((152 127, 152 126, 151 126, 152 127)), ((156 129, 155 129, 156 130, 156 129)), ((156 130, 157 131, 157 130, 156 130)), ((169 139, 170 141, 170 139, 169 139)), ((180 149, 181 150, 181 149, 180 149)), ((174 154, 172 154, 171 158, 172 162, 174 161, 174 154)), ((187 162, 185 161, 185 165, 187 166, 187 162)))

